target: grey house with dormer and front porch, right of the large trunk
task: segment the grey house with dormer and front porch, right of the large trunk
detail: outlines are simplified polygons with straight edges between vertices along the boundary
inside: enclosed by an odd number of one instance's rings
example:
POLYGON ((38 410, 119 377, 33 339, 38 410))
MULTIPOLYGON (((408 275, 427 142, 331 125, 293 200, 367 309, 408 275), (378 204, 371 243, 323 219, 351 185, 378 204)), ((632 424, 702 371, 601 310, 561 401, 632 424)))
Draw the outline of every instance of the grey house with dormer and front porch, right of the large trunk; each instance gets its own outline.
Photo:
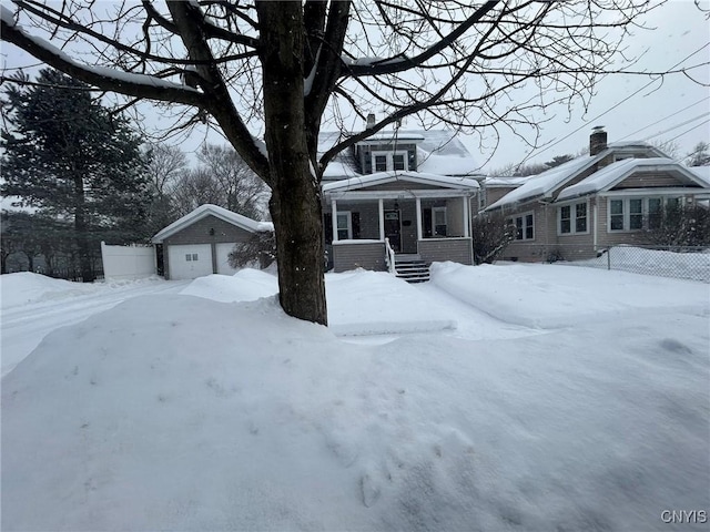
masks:
MULTIPOLYGON (((322 152, 338 133, 323 133, 322 152)), ((477 165, 448 131, 378 132, 341 153, 323 176, 328 267, 428 278, 428 264, 473 264, 471 201, 477 165), (395 264, 396 263, 396 264, 395 264)))

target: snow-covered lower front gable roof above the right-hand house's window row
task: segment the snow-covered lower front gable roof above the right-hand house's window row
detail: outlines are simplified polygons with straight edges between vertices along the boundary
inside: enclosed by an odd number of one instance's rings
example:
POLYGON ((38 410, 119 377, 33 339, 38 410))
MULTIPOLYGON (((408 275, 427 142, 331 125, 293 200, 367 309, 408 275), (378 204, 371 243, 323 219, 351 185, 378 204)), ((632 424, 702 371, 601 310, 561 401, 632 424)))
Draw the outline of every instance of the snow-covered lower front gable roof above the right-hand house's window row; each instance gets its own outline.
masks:
MULTIPOLYGON (((668 157, 625 158, 622 161, 617 161, 609 166, 605 166, 576 185, 568 186, 559 193, 557 198, 566 200, 579 197, 586 194, 594 194, 595 192, 609 190, 617 183, 623 181, 630 174, 640 170, 646 170, 647 172, 651 170, 673 170, 684 174, 690 180, 693 180, 693 175, 688 175, 687 171, 689 168, 668 157)), ((692 174, 692 172, 690 172, 690 174, 692 174)))

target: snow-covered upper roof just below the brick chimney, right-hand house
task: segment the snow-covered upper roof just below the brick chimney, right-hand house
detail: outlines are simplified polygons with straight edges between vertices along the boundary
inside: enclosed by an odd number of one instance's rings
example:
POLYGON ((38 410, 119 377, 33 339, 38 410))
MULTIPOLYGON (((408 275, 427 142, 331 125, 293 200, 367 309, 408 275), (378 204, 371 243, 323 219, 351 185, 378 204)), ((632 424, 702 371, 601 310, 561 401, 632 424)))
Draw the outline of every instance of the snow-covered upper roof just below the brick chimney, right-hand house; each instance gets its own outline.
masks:
POLYGON ((528 177, 519 187, 510 191, 500 200, 490 204, 485 208, 485 211, 494 211, 506 205, 525 203, 536 198, 551 198, 555 191, 565 186, 566 183, 569 183, 582 172, 591 168, 605 157, 611 154, 633 154, 639 152, 643 152, 656 157, 666 156, 661 151, 646 142, 630 141, 611 143, 594 156, 584 155, 581 157, 572 158, 571 161, 567 161, 566 163, 547 170, 541 174, 528 177))

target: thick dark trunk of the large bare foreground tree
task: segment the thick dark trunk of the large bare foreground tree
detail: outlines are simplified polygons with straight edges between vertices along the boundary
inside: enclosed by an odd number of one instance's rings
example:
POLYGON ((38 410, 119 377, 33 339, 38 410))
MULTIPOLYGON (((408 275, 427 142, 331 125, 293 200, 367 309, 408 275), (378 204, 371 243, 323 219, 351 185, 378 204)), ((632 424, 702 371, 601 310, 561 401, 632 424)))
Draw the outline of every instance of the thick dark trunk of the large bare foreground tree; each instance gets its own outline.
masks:
POLYGON ((308 155, 301 2, 257 2, 281 306, 327 325, 321 192, 308 155))

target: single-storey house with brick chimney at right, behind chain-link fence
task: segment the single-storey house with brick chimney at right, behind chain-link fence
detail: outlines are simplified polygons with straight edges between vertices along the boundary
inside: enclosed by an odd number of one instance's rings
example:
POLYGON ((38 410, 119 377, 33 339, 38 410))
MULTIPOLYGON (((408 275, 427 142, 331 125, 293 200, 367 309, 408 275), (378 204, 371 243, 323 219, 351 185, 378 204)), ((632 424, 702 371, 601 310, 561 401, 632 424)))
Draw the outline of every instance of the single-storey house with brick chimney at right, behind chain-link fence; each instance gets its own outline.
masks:
POLYGON ((595 129, 589 155, 524 178, 490 202, 500 180, 485 180, 484 213, 501 212, 516 227, 504 259, 596 256, 609 246, 645 243, 645 229, 669 202, 710 198, 710 181, 645 142, 607 144, 595 129), (490 186, 487 184, 490 181, 490 186))

